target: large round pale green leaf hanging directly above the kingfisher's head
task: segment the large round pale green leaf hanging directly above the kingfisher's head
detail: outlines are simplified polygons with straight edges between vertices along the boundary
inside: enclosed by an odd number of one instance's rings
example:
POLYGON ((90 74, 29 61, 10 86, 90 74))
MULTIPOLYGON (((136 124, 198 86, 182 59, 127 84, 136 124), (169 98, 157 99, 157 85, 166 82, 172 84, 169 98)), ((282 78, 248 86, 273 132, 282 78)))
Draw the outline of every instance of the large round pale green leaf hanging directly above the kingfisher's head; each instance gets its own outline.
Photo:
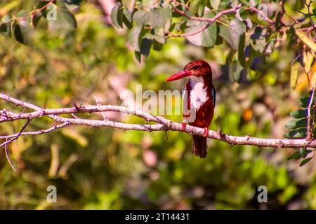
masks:
MULTIPOLYGON (((212 13, 207 13, 205 18, 213 18, 212 13)), ((205 27, 207 22, 193 21, 189 20, 187 22, 188 28, 185 29, 185 33, 194 33, 195 31, 201 30, 205 27)), ((197 32, 197 34, 187 36, 187 40, 195 45, 202 45, 204 47, 212 47, 216 43, 217 36, 217 26, 216 22, 213 22, 209 27, 204 29, 203 31, 197 32)))

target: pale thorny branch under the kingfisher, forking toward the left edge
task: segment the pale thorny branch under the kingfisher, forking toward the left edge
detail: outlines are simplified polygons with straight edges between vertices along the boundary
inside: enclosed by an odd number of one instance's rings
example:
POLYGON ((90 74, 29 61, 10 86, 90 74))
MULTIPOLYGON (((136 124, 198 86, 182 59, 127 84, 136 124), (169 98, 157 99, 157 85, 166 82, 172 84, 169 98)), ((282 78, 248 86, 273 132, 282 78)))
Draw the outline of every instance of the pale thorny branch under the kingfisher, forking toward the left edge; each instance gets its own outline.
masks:
MULTIPOLYGON (((71 107, 65 109, 41 109, 39 106, 28 102, 22 102, 13 97, 9 97, 8 95, 1 93, 0 99, 4 99, 6 102, 10 102, 11 104, 15 104, 16 106, 20 106, 22 108, 28 108, 34 110, 32 113, 13 113, 11 111, 2 110, 1 111, 1 122, 13 122, 15 120, 27 120, 31 121, 36 118, 40 118, 41 116, 46 116, 51 118, 55 122, 60 125, 54 125, 48 130, 39 130, 37 132, 23 132, 25 125, 22 130, 18 134, 2 136, 0 139, 10 139, 5 141, 1 146, 4 146, 15 139, 17 139, 20 135, 36 135, 36 134, 45 134, 48 132, 52 132, 58 128, 66 127, 68 125, 84 125, 88 127, 113 127, 121 130, 136 130, 136 131, 145 131, 145 132, 154 132, 154 131, 178 131, 178 132, 187 132, 187 134, 195 134, 199 136, 204 135, 204 129, 199 127, 193 127, 188 125, 186 130, 183 131, 182 125, 180 123, 175 123, 171 120, 167 120, 166 118, 162 118, 161 116, 152 116, 143 111, 128 109, 123 106, 81 106, 81 107, 71 107), (72 113, 96 113, 103 111, 116 111, 120 113, 125 113, 133 116, 138 116, 143 118, 146 122, 152 121, 157 123, 155 125, 143 125, 143 124, 126 124, 114 122, 112 120, 89 120, 82 118, 64 118, 58 115, 62 114, 72 114, 72 113)), ((28 123, 27 123, 28 124, 28 123)), ((316 140, 308 141, 307 139, 263 139, 263 138, 255 138, 249 137, 246 135, 244 137, 232 136, 229 134, 223 134, 221 132, 209 131, 209 138, 216 139, 220 141, 224 141, 231 146, 234 145, 249 145, 249 146, 259 146, 259 147, 272 147, 272 148, 301 148, 301 147, 312 147, 316 148, 316 140)))

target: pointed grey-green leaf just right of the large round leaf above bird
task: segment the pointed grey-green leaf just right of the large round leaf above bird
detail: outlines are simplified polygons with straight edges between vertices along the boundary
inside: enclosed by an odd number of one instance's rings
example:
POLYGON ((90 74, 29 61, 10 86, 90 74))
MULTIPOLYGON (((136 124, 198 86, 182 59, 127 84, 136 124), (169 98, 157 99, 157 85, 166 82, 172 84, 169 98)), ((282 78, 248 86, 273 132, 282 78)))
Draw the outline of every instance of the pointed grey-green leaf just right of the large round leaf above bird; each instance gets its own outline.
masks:
POLYGON ((233 50, 238 49, 239 41, 246 31, 246 25, 239 20, 232 19, 230 20, 230 27, 225 27, 224 25, 220 25, 220 36, 222 36, 225 41, 227 41, 233 50))

